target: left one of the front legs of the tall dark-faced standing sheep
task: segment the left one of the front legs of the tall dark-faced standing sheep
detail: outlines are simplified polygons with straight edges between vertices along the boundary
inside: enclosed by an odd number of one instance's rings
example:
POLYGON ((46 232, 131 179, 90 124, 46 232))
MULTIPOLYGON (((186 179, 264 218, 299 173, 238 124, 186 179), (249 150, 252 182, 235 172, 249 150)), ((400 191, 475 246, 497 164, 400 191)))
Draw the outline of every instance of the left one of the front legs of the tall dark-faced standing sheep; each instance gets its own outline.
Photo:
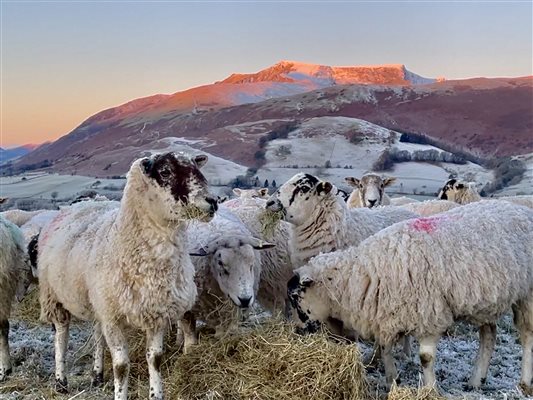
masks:
POLYGON ((115 400, 127 400, 128 376, 130 373, 128 342, 124 337, 124 333, 116 323, 103 323, 102 330, 109 351, 111 352, 111 359, 113 360, 115 400))

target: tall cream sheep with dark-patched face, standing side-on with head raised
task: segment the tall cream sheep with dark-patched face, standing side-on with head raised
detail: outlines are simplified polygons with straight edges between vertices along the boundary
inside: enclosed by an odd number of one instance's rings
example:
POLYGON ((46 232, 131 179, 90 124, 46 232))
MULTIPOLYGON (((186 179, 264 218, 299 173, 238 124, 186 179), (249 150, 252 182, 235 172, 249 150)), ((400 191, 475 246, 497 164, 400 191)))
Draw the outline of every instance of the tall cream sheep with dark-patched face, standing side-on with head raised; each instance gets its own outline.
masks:
POLYGON ((160 364, 168 322, 187 319, 196 299, 185 221, 217 209, 200 172, 207 156, 164 153, 135 160, 120 203, 80 202, 61 210, 39 237, 41 319, 55 327, 56 389, 67 390, 71 315, 94 320, 93 384, 103 383, 103 341, 113 362, 115 399, 126 399, 124 328, 146 334, 150 398, 162 399, 160 364))

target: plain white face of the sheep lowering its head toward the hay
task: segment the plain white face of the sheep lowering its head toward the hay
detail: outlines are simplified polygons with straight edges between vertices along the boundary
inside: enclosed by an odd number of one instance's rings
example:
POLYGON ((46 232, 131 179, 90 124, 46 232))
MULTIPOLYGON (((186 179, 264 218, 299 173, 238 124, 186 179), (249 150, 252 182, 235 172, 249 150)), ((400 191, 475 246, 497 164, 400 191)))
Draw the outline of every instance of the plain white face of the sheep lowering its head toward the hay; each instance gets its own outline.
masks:
POLYGON ((271 247, 274 245, 257 238, 230 236, 214 240, 191 255, 211 257, 211 274, 220 290, 236 306, 248 308, 255 301, 259 284, 260 269, 259 264, 256 264, 254 249, 271 247))

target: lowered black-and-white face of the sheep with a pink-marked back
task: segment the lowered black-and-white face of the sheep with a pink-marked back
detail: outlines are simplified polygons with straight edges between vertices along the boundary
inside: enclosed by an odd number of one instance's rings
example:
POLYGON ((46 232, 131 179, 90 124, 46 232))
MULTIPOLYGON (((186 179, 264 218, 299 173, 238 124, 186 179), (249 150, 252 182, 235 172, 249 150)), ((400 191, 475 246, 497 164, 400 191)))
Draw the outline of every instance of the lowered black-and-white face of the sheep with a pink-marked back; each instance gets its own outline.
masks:
POLYGON ((320 286, 301 269, 287 283, 290 304, 298 315, 296 331, 300 334, 314 333, 331 319, 330 307, 320 295, 320 286))

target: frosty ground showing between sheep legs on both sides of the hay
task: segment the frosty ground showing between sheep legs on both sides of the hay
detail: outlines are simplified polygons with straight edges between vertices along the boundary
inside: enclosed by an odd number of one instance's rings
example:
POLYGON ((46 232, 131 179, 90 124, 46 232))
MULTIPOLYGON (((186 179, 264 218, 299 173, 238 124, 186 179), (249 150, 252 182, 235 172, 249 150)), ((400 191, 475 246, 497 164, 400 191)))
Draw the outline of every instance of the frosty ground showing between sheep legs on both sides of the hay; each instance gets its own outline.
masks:
MULTIPOLYGON (((263 319, 265 315, 254 319, 263 319)), ((111 399, 113 382, 110 360, 106 359, 106 385, 103 389, 90 387, 93 343, 91 325, 76 322, 71 325, 68 348, 68 369, 70 393, 58 395, 54 391, 53 329, 49 325, 12 320, 10 331, 11 354, 14 373, 0 383, 0 399, 40 400, 76 398, 79 400, 111 399)), ((365 355, 372 351, 370 343, 361 344, 365 355)), ((470 377, 478 348, 477 329, 458 323, 445 335, 438 346, 436 374, 439 389, 450 399, 461 400, 523 400, 527 397, 517 388, 520 379, 521 348, 518 335, 512 326, 510 315, 498 324, 496 349, 492 357, 486 384, 479 391, 465 391, 464 384, 470 377)), ((420 368, 416 356, 418 346, 412 345, 411 360, 403 358, 400 346, 396 349, 396 360, 401 385, 420 385, 420 368)), ((133 365, 133 368, 136 366, 133 365)), ((368 373, 368 379, 376 393, 376 399, 384 398, 385 377, 383 366, 368 373)), ((132 398, 143 398, 133 390, 132 398)))

